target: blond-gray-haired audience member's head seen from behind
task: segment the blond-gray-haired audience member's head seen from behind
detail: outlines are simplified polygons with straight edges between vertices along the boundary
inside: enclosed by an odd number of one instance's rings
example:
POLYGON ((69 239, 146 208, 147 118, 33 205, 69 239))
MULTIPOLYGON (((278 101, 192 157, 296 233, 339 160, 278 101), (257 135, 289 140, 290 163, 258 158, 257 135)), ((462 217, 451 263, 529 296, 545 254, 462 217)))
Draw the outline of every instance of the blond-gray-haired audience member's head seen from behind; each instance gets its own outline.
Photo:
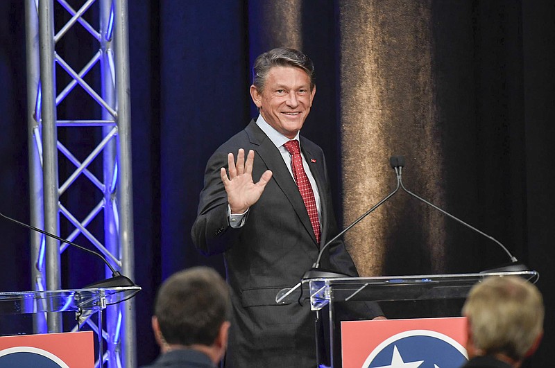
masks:
POLYGON ((477 283, 463 306, 468 317, 468 354, 495 356, 518 367, 543 336, 543 298, 521 277, 488 277, 477 283))

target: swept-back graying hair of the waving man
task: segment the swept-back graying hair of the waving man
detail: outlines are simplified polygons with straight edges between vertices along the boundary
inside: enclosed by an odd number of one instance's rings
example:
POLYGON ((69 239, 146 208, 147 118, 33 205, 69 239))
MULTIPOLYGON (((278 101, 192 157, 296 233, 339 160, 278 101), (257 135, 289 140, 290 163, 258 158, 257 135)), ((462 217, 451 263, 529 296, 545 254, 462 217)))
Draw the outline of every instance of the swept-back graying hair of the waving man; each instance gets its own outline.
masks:
POLYGON ((273 67, 295 67, 307 73, 310 78, 310 89, 314 88, 314 64, 304 53, 296 49, 278 47, 258 56, 253 67, 253 85, 262 93, 268 73, 273 67))

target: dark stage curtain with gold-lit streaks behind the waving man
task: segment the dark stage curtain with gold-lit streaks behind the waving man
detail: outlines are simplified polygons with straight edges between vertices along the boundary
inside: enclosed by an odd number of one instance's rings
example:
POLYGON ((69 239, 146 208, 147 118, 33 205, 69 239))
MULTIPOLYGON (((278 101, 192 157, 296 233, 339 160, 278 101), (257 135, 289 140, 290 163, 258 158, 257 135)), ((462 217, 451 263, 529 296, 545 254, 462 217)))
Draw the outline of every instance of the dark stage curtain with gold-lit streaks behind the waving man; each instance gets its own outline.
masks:
MULTIPOLYGON (((357 73, 368 66, 362 63, 378 60, 375 67, 381 84, 377 89, 370 86, 365 93, 387 93, 383 107, 391 109, 395 119, 370 121, 384 125, 381 138, 386 143, 379 147, 383 154, 372 151, 372 161, 364 166, 368 165, 368 170, 386 166, 379 179, 385 183, 384 189, 392 189, 395 177, 387 168, 388 157, 405 155, 407 187, 432 202, 438 199, 437 204, 501 240, 518 259, 538 270, 547 310, 554 308, 552 0, 428 0, 418 6, 399 0, 134 0, 128 4, 135 282, 143 288, 135 298, 139 365, 151 362, 158 353, 150 324, 160 283, 193 265, 211 265, 225 273, 221 256, 198 254, 189 232, 207 159, 256 115, 248 94, 251 64, 259 53, 276 46, 298 47, 316 65, 316 98, 302 133, 326 153, 340 222, 355 216, 348 213, 350 202, 345 202, 345 191, 351 191, 353 184, 349 179, 353 169, 342 165, 342 160, 368 159, 364 155, 344 157, 352 152, 350 145, 364 147, 364 141, 342 136, 343 125, 364 116, 371 107, 350 94, 365 92, 361 85, 368 80, 357 80, 357 73), (360 15, 368 15, 368 19, 359 19, 360 15), (422 54, 395 44, 406 36, 404 27, 414 24, 424 27, 420 31, 414 28, 412 41, 413 46, 423 45, 427 53, 427 80, 432 90, 418 91, 414 87, 418 80, 413 84, 410 79, 418 75, 415 65, 422 62, 418 58, 422 54), (376 48, 368 50, 370 39, 366 44, 364 38, 376 35, 388 38, 371 40, 376 48), (418 38, 424 36, 425 42, 418 38), (349 45, 355 44, 352 37, 358 37, 361 46, 350 49, 349 45), (381 54, 368 58, 367 51, 381 54), (402 53, 399 58, 397 52, 402 53), (413 87, 415 91, 406 94, 406 89, 413 87), (432 106, 418 105, 423 101, 432 106), (434 112, 429 114, 430 121, 420 119, 427 116, 424 109, 434 112), (435 133, 414 134, 417 124, 433 126, 435 133), (429 155, 429 145, 436 154, 429 155), (431 165, 439 167, 430 170, 431 165)), ((67 35, 58 47, 69 54, 76 45, 86 48, 83 42, 67 35)), ((0 211, 26 221, 24 53, 24 2, 0 1, 0 211)), ((89 57, 72 56, 78 64, 89 57)), ((64 108, 71 113, 72 107, 64 108)), ((386 193, 371 193, 372 198, 380 195, 386 193)), ((74 195, 69 200, 87 199, 74 195)), ((376 270, 374 265, 383 274, 474 272, 506 261, 497 245, 461 225, 449 219, 441 220, 444 225, 428 221, 427 213, 434 210, 424 204, 395 198, 384 206, 388 207, 380 210, 388 216, 380 226, 388 228, 379 256, 368 249, 373 239, 350 239, 348 244, 363 274, 376 270), (430 231, 436 225, 444 229, 430 231)), ((364 222, 359 225, 364 226, 364 222)), ((31 289, 28 231, 6 221, 0 222, 0 230, 0 290, 31 289)), ((78 241, 87 243, 83 237, 78 241)), ((71 273, 71 283, 63 281, 67 287, 102 277, 102 265, 87 255, 72 251, 64 255, 62 263, 62 277, 67 279, 71 273)), ((547 313, 544 342, 529 366, 550 361, 554 323, 547 313)))

